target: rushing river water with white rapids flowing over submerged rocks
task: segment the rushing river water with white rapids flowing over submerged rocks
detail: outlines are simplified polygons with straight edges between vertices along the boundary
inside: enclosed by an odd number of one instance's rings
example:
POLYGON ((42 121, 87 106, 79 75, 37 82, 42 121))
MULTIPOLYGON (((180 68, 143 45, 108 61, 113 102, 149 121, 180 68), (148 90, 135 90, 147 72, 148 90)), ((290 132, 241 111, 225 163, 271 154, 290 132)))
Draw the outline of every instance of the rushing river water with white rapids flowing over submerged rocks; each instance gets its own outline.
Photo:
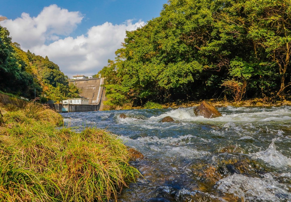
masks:
POLYGON ((71 127, 96 126, 143 155, 143 178, 118 201, 291 201, 291 106, 193 107, 62 113, 71 127), (120 118, 124 113, 127 118, 120 118), (175 122, 159 122, 171 116, 175 122))

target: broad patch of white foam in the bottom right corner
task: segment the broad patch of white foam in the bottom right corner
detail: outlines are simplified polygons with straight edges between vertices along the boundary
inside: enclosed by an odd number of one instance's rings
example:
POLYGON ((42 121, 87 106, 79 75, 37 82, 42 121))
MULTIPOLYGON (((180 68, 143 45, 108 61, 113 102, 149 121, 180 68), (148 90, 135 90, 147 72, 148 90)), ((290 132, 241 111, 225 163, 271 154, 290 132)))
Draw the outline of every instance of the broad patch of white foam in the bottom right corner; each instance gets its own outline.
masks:
POLYGON ((288 188, 274 181, 269 175, 266 178, 249 178, 242 174, 233 174, 216 182, 222 192, 234 194, 244 201, 280 201, 291 199, 288 188))

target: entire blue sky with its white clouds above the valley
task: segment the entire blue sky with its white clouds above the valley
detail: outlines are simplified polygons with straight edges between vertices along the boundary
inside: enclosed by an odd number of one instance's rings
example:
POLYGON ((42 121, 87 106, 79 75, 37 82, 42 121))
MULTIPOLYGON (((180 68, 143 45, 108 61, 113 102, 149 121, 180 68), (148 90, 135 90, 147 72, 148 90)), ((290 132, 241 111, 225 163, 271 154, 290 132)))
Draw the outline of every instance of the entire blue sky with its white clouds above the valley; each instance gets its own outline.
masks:
POLYGON ((12 41, 46 55, 69 77, 97 73, 114 59, 125 30, 158 17, 167 0, 2 1, 12 41))

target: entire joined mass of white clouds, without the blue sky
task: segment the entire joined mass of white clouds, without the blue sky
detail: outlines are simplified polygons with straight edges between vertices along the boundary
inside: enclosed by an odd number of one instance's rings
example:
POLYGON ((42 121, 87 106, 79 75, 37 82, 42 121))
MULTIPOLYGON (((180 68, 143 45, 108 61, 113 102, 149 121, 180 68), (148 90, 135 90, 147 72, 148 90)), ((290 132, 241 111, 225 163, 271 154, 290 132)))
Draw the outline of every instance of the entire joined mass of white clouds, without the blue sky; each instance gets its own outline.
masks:
POLYGON ((10 31, 12 41, 18 42, 23 50, 29 49, 37 55, 48 56, 68 76, 98 73, 114 59, 114 52, 121 47, 125 31, 135 30, 145 22, 122 24, 105 22, 90 28, 76 38, 69 34, 82 21, 80 12, 70 12, 57 5, 45 7, 37 17, 22 13, 21 18, 1 23, 10 31), (65 38, 64 38, 65 36, 65 38))

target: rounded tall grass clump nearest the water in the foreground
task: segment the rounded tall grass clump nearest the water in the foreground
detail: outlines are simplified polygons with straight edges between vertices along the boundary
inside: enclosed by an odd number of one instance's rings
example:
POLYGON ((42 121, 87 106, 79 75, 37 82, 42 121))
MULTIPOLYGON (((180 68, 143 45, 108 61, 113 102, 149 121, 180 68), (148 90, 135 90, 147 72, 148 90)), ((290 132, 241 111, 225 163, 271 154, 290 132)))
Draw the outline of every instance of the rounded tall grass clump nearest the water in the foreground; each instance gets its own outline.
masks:
POLYGON ((76 134, 62 153, 63 185, 68 201, 109 200, 134 178, 125 145, 100 129, 86 128, 76 134))

